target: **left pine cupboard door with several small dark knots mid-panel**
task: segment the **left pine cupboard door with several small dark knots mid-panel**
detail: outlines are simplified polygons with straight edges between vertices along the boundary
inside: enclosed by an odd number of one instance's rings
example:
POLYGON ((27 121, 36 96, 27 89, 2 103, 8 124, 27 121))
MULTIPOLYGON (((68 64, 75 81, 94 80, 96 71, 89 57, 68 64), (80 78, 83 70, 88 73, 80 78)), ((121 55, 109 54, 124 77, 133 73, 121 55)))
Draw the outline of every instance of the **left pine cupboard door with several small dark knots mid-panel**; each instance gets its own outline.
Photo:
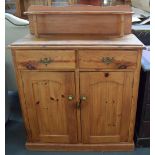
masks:
POLYGON ((21 75, 32 140, 76 143, 74 73, 22 71, 21 75))

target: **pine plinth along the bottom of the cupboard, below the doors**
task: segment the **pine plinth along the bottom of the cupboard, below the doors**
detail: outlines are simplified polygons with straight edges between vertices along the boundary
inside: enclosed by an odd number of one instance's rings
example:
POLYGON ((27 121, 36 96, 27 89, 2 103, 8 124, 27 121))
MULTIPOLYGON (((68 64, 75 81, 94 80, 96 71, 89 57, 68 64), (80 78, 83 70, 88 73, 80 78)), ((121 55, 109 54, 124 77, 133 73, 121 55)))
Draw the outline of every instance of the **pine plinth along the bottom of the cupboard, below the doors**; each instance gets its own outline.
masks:
POLYGON ((26 143, 26 148, 37 151, 133 151, 133 143, 111 144, 52 144, 52 143, 26 143))

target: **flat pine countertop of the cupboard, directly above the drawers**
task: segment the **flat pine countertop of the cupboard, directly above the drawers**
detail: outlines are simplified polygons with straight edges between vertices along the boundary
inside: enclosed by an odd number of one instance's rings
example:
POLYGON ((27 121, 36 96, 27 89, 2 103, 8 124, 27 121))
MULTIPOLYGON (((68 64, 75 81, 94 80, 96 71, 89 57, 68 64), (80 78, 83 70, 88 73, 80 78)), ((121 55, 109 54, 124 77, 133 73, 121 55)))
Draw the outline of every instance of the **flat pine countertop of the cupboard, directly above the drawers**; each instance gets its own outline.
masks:
POLYGON ((46 46, 112 46, 112 47, 138 47, 142 48, 143 43, 134 35, 129 34, 121 38, 102 39, 98 36, 58 36, 53 35, 50 38, 35 38, 28 34, 24 38, 11 44, 11 47, 46 47, 46 46), (90 39, 91 38, 91 39, 90 39))

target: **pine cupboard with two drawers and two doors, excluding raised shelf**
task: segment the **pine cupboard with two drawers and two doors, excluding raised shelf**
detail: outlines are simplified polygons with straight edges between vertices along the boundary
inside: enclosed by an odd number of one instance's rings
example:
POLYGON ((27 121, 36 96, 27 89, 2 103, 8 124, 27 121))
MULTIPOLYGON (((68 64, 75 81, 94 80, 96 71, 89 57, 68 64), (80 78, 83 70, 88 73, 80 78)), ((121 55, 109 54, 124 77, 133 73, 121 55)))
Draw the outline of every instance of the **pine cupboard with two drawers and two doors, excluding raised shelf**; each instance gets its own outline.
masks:
POLYGON ((36 39, 11 45, 32 150, 134 148, 141 50, 134 36, 36 39))

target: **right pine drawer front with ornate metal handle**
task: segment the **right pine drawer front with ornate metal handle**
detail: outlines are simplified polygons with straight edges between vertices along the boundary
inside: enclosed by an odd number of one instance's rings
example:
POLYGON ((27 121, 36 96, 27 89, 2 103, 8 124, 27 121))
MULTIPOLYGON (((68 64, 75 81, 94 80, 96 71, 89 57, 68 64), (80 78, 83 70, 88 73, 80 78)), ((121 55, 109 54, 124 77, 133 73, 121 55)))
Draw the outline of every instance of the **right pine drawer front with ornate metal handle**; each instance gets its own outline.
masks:
POLYGON ((128 50, 80 50, 80 68, 135 69, 137 52, 128 50))

